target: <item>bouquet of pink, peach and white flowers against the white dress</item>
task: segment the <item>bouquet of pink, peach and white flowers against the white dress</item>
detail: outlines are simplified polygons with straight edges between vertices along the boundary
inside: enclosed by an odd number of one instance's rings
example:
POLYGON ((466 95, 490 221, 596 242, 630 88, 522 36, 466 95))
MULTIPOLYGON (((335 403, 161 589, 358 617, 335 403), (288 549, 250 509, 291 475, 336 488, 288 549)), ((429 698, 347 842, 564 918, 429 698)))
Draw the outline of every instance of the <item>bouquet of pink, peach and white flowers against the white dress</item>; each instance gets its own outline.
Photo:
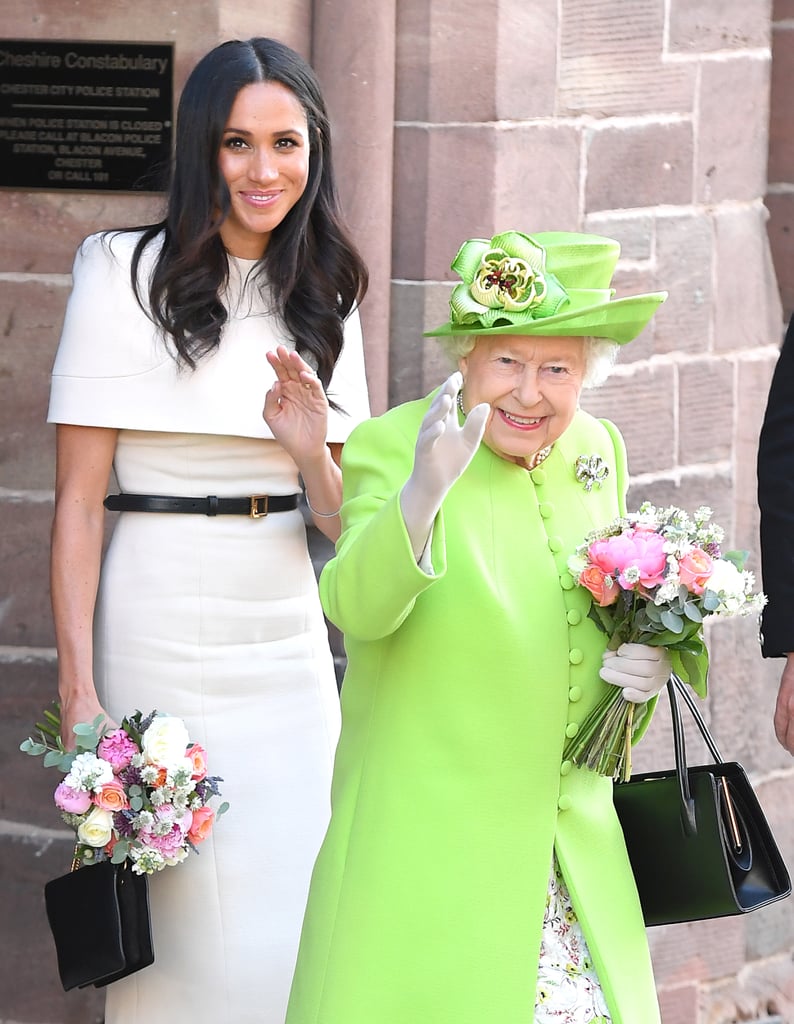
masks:
POLYGON ((99 716, 75 726, 74 751, 60 740, 57 705, 44 719, 19 750, 65 773, 54 801, 76 833, 73 867, 110 858, 152 874, 184 860, 228 808, 210 807, 222 779, 207 773, 207 754, 179 718, 136 711, 108 729, 99 716))

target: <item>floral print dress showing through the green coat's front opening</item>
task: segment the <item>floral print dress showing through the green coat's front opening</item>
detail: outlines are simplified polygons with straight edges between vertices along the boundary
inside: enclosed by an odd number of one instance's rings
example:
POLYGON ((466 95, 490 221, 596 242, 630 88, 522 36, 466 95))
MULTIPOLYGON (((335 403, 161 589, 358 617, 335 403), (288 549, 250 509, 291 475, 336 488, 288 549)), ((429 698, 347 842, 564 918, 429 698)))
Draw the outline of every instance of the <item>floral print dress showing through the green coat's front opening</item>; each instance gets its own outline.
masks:
POLYGON ((612 1024, 556 857, 543 916, 535 1024, 612 1024))

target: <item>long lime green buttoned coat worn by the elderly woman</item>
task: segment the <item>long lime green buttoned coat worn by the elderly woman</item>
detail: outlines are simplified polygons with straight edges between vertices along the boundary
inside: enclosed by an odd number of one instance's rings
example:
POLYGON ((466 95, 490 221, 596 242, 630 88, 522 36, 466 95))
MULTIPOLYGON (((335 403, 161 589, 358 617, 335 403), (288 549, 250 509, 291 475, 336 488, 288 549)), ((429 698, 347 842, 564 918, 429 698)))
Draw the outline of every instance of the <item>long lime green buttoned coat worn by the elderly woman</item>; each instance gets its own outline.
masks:
POLYGON ((532 472, 480 445, 425 574, 398 495, 428 401, 344 447, 321 577, 348 656, 342 733, 287 1024, 531 1024, 552 850, 614 1024, 656 1024, 612 782, 561 758, 607 685, 567 559, 624 510, 623 442, 580 412, 532 472), (592 454, 610 475, 588 493, 592 454))

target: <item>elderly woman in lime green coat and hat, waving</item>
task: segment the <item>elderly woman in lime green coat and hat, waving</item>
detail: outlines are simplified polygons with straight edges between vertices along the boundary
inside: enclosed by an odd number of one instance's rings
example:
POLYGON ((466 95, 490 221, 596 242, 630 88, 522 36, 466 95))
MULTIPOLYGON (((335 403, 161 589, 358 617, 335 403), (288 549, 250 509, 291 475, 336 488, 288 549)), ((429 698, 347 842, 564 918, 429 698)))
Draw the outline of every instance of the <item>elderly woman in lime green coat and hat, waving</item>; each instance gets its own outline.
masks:
POLYGON ((641 732, 669 674, 604 654, 567 565, 627 487, 580 393, 665 298, 613 298, 619 251, 469 240, 427 332, 457 371, 345 445, 342 731, 287 1024, 659 1021, 612 780, 562 756, 610 685, 641 732))

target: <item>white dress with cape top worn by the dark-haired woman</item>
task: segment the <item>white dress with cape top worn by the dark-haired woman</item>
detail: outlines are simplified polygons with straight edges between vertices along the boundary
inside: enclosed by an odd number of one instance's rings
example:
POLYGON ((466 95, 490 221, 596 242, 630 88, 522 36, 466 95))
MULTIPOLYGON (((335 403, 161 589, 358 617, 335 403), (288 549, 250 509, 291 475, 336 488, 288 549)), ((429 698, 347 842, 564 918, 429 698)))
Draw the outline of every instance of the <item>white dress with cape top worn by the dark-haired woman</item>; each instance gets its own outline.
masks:
MULTIPOLYGON (((179 373, 129 288, 135 236, 96 237, 75 264, 48 419, 121 428, 129 493, 241 497, 299 490, 261 419, 285 343, 236 260, 218 351, 179 373), (252 297, 253 296, 253 297, 252 297)), ((332 386, 368 415, 358 314, 332 386)), ((184 719, 223 777, 229 811, 176 867, 151 877, 155 964, 109 986, 107 1024, 283 1024, 315 856, 328 821, 339 728, 333 660, 299 511, 121 513, 103 560, 95 678, 116 719, 184 719)))

